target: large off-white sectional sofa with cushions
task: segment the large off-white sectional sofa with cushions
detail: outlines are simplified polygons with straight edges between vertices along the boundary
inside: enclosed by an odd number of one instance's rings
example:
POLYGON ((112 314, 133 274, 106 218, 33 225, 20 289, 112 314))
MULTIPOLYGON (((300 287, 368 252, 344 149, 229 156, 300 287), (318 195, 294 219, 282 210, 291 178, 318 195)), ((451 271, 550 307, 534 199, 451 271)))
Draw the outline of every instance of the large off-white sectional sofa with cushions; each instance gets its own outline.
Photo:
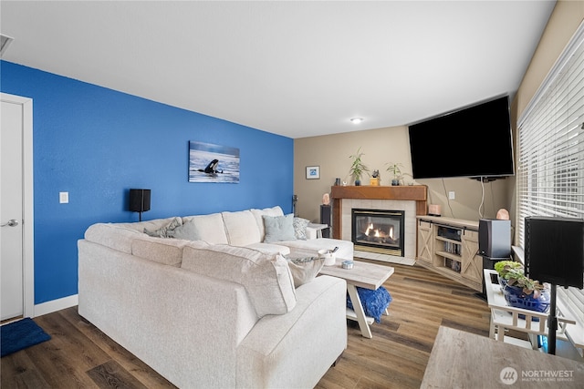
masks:
POLYGON ((347 347, 346 283, 308 265, 295 286, 282 254, 352 258, 352 243, 270 241, 283 222, 276 207, 94 224, 78 312, 181 388, 313 387, 347 347))

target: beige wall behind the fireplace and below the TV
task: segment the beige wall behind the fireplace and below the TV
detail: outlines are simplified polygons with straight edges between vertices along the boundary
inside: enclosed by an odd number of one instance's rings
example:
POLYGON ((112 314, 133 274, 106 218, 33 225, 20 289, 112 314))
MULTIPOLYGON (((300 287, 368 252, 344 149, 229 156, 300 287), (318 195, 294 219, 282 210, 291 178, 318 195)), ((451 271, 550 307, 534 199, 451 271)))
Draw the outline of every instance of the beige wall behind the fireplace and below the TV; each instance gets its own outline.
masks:
MULTIPOLYGON (((349 177, 349 156, 361 148, 363 162, 370 168, 379 169, 381 185, 391 185, 391 173, 386 171, 389 163, 401 163, 403 172, 412 173, 408 128, 405 126, 370 129, 322 137, 298 138, 294 143, 295 193, 298 196, 298 215, 313 221, 319 220, 319 205, 322 195, 330 192, 330 186, 339 178, 353 185, 349 177), (306 167, 320 166, 320 179, 306 179, 306 167)), ((414 183, 412 176, 405 183, 414 183)), ((369 178, 363 179, 369 184, 369 178)), ((507 179, 481 183, 473 179, 419 179, 417 184, 427 185, 429 200, 442 205, 443 216, 457 219, 478 220, 479 208, 487 218, 494 218, 499 208, 507 208, 507 179), (455 200, 448 199, 454 191, 455 200)))

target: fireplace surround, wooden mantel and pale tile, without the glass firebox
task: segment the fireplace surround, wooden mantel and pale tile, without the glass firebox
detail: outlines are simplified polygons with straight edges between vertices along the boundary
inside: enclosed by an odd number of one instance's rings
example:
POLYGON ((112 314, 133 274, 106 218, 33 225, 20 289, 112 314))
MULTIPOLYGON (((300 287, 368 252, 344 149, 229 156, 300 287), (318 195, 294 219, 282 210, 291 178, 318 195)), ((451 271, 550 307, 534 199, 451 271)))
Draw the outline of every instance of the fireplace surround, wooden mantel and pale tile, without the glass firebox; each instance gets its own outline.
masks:
POLYGON ((355 251, 355 257, 375 261, 413 264, 416 257, 416 215, 426 213, 426 187, 332 187, 333 237, 351 240, 351 210, 403 210, 404 255, 397 257, 368 251, 355 251))

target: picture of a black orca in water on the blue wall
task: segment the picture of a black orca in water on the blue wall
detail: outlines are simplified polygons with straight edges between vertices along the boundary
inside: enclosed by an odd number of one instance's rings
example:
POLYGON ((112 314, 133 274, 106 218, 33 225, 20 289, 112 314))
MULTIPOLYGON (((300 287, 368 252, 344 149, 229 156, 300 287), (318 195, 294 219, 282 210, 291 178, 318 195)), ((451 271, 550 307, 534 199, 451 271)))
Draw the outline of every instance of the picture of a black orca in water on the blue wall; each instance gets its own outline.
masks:
POLYGON ((239 182, 239 148, 189 141, 189 182, 239 182))

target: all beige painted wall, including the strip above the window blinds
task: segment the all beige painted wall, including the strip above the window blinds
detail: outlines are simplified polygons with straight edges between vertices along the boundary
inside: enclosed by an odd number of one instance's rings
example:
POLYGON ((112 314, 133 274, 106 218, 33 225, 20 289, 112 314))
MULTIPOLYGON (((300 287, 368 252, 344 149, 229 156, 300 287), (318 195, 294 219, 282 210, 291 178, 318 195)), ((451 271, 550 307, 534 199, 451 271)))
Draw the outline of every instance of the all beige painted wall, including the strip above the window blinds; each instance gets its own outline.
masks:
MULTIPOLYGON (((511 111, 512 122, 536 93, 569 38, 584 19, 584 2, 558 1, 546 30, 521 83, 511 111)), ((513 126, 515 130, 515 125, 513 126)), ((380 169, 381 185, 390 185, 390 173, 385 171, 389 162, 401 162, 404 171, 412 173, 407 127, 379 128, 322 137, 298 138, 294 142, 294 190, 298 196, 298 215, 313 221, 319 220, 322 195, 330 191, 335 178, 350 181, 349 155, 357 148, 365 154, 363 161, 370 169, 380 169), (320 179, 306 179, 307 166, 320 166, 320 179)), ((412 181, 412 178, 406 178, 412 181)), ((496 210, 515 211, 515 178, 497 179, 481 183, 473 179, 420 179, 427 185, 429 201, 442 205, 443 216, 465 220, 478 220, 479 209, 485 218, 494 218, 496 210), (454 191, 455 200, 447 200, 454 191), (484 198, 484 203, 482 203, 484 198), (483 204, 481 206, 481 204, 483 204)))

